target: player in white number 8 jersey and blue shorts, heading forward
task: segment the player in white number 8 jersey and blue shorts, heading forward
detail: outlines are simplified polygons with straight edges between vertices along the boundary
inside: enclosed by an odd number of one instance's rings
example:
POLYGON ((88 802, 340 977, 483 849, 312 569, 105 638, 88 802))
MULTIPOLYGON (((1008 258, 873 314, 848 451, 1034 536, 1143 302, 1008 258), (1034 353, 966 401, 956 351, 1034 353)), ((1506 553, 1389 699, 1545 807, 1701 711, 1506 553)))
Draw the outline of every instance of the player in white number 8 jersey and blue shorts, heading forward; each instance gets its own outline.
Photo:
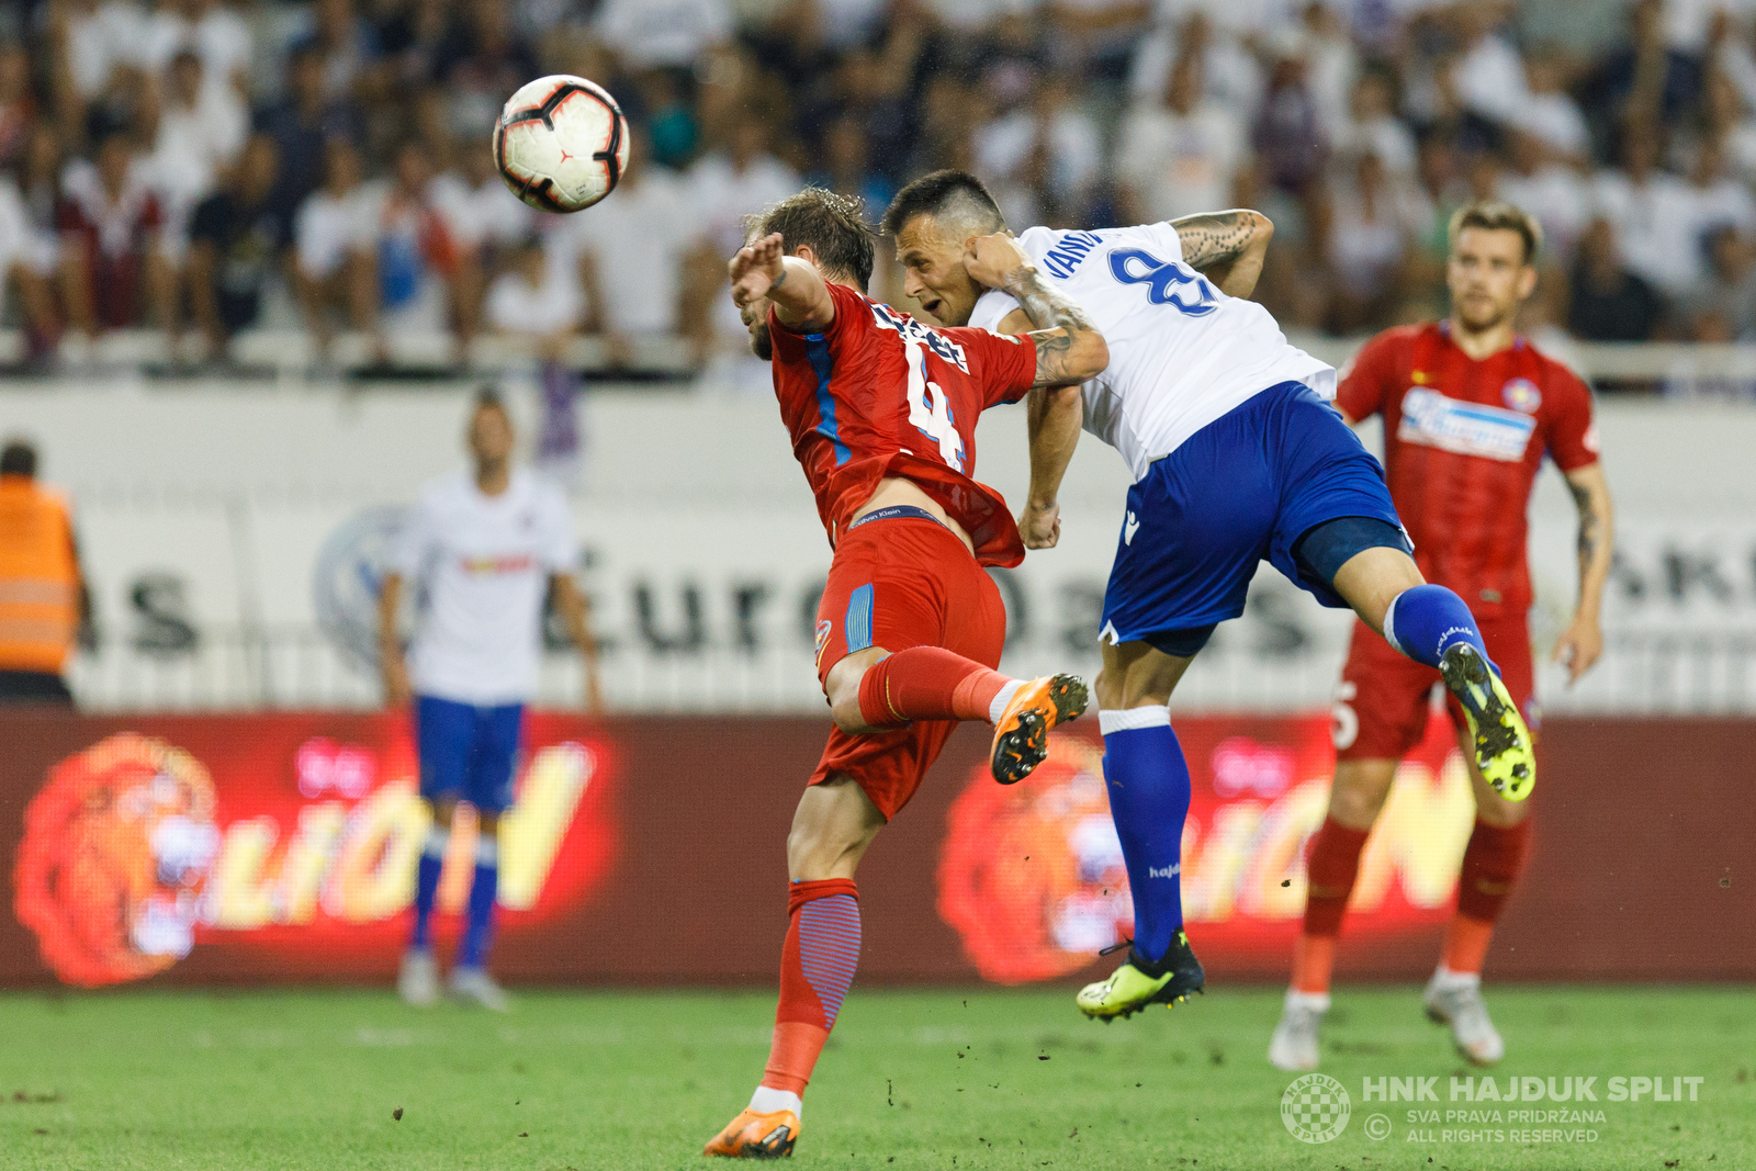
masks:
MULTIPOLYGON (((1006 228, 978 179, 941 170, 883 218, 904 291, 941 325, 1029 328, 1017 300, 964 270, 971 237, 1006 228)), ((1336 374, 1291 346, 1249 300, 1273 225, 1254 211, 1099 232, 1031 228, 1031 260, 1103 332, 1110 365, 1085 386, 1036 392, 1026 546, 1059 537, 1055 497, 1083 425, 1134 485, 1105 593, 1098 678, 1110 811, 1134 899, 1129 959, 1078 995, 1112 1020, 1173 1004, 1205 974, 1182 930, 1189 765, 1169 725, 1184 671, 1215 625, 1243 613, 1268 560, 1324 606, 1352 607, 1401 653, 1438 667, 1463 702, 1482 774, 1522 799, 1529 730, 1470 609, 1426 585, 1384 469, 1329 406, 1336 374)))

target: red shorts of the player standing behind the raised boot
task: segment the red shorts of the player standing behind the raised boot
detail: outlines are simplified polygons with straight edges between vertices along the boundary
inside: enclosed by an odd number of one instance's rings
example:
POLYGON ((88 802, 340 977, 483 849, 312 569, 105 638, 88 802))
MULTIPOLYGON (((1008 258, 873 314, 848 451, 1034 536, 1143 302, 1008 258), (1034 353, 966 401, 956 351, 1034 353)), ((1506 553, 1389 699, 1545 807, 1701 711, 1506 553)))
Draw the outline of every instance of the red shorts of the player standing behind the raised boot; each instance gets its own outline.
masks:
MULTIPOLYGON (((1542 713, 1536 708, 1536 674, 1531 665, 1531 636, 1524 614, 1477 618, 1487 655, 1500 667, 1500 678, 1517 700, 1531 734, 1542 713)), ((1401 760, 1426 736, 1426 718, 1433 686, 1440 683, 1435 667, 1424 667, 1391 650, 1371 627, 1354 623, 1354 644, 1342 667, 1342 686, 1335 695, 1336 760, 1401 760)), ((1463 729, 1463 708, 1445 695, 1450 722, 1463 729)))

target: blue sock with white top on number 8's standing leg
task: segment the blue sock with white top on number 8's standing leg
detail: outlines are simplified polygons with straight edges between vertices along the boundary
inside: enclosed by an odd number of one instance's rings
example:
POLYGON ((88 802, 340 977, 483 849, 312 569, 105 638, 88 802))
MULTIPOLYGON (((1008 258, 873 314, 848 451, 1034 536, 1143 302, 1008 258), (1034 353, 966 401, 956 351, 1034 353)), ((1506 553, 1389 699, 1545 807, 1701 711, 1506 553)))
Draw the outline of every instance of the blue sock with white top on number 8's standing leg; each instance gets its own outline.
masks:
POLYGON ((1161 960, 1184 925, 1184 818, 1189 764, 1164 708, 1099 711, 1103 776, 1127 885, 1134 894, 1134 952, 1161 960))

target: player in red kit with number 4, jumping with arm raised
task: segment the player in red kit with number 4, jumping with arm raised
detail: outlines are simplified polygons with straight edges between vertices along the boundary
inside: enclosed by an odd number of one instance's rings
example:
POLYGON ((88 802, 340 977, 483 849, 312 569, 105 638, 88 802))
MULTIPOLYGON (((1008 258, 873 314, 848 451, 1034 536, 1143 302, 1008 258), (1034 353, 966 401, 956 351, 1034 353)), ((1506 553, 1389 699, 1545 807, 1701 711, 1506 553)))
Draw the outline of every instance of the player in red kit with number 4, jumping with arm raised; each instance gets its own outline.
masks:
POLYGON ((1048 730, 1085 709, 1075 676, 1008 679, 1006 611, 985 565, 1017 565, 1006 502, 975 481, 983 409, 1047 409, 1110 360, 1103 335, 1004 235, 969 274, 1015 291, 1038 332, 929 328, 864 295, 873 228, 859 200, 806 190, 760 216, 730 263, 752 349, 769 358, 794 456, 836 550, 817 671, 836 727, 787 837, 788 927, 762 1083, 706 1146, 773 1159, 799 1138, 804 1087, 859 962, 853 873, 959 720, 994 725, 994 778, 1022 779, 1048 730))

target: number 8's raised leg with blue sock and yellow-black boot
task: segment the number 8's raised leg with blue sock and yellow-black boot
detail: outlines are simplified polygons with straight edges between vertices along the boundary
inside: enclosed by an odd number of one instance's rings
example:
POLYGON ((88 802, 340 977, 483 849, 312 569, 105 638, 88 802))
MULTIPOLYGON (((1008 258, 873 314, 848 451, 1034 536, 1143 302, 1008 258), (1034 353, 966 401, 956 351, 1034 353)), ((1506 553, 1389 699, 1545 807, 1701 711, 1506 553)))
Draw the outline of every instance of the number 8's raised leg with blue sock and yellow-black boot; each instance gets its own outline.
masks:
MULTIPOLYGON (((1340 525, 1324 528, 1329 527, 1340 525)), ((1428 585, 1407 551, 1387 546, 1349 557, 1336 569, 1333 586, 1393 648, 1438 669, 1445 690, 1463 706, 1472 757, 1494 792, 1512 801, 1529 797, 1536 783, 1529 727, 1487 657, 1487 644, 1463 599, 1445 586, 1428 585)))

